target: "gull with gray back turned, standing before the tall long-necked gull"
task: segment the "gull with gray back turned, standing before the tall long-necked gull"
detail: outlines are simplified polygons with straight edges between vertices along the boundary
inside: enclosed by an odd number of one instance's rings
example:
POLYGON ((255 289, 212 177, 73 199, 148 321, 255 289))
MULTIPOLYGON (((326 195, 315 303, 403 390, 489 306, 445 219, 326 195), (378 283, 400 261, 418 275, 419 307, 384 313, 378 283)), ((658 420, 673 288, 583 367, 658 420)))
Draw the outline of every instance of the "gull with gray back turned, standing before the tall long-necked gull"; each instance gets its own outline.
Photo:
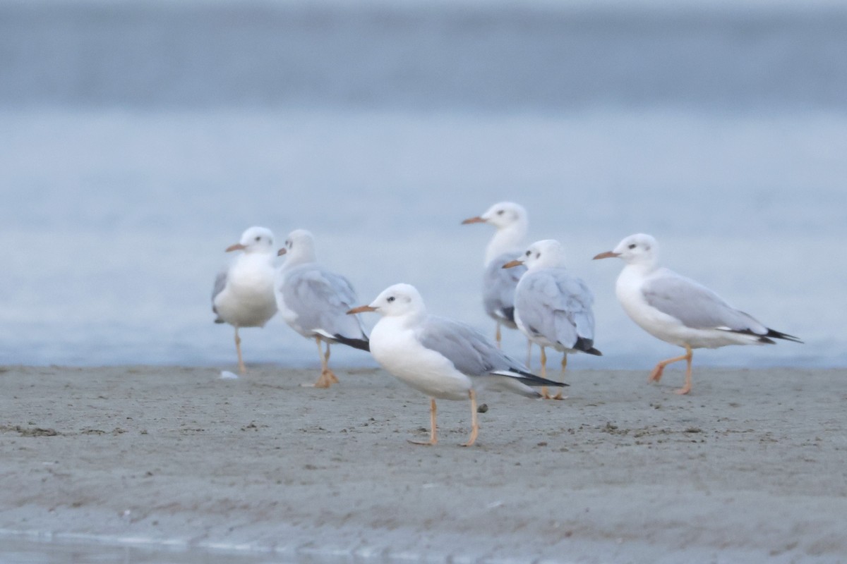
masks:
MULTIPOLYGON (((562 378, 567 353, 601 356, 594 348, 594 296, 585 282, 565 269, 565 250, 554 239, 536 241, 503 268, 524 265, 526 274, 515 290, 515 321, 518 329, 541 348, 541 377, 547 375, 546 347, 562 353, 562 378)), ((541 388, 545 398, 547 389, 541 388)), ((560 390, 553 399, 562 399, 560 390)))

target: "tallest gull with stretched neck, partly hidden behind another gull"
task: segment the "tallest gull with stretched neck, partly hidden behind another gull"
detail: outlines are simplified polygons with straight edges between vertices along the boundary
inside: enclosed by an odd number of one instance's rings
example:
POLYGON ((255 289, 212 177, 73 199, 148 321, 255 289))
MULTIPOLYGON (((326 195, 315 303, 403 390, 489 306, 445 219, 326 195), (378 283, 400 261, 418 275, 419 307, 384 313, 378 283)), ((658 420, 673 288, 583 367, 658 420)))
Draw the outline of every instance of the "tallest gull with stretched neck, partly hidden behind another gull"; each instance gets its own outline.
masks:
MULTIPOLYGON (((523 250, 523 239, 527 234, 527 211, 523 205, 512 202, 500 202, 492 205, 481 216, 469 217, 462 224, 488 223, 497 228, 485 249, 485 271, 483 274, 483 304, 485 313, 497 323, 495 333, 497 347, 500 347, 501 326, 516 329, 515 324, 515 287, 518 280, 526 271, 525 268, 514 268, 504 271, 502 266, 510 260, 518 259, 523 250)), ((528 343, 529 348, 532 343, 528 343)))

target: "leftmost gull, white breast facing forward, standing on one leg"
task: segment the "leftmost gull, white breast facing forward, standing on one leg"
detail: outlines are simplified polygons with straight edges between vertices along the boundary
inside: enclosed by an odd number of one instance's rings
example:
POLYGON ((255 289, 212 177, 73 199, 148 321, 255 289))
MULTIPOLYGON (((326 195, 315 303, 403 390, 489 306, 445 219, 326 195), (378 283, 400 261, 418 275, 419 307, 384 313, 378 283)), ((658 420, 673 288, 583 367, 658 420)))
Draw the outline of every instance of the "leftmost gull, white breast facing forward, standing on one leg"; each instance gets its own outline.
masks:
POLYGON ((212 311, 215 323, 235 327, 238 370, 245 374, 241 359, 239 327, 263 327, 276 313, 274 299, 274 233, 264 227, 250 227, 241 240, 225 252, 244 251, 214 281, 212 311))

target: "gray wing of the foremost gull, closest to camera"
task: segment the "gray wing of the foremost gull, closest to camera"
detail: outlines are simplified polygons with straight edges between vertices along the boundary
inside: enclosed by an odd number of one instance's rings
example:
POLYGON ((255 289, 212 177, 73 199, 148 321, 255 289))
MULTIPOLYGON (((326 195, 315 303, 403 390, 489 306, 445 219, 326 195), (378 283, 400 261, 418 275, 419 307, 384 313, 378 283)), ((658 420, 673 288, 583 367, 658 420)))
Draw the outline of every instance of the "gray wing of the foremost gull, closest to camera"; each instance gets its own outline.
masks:
POLYGON ((441 353, 465 375, 526 370, 523 364, 502 353, 482 333, 459 321, 428 315, 418 330, 418 338, 425 348, 441 353))

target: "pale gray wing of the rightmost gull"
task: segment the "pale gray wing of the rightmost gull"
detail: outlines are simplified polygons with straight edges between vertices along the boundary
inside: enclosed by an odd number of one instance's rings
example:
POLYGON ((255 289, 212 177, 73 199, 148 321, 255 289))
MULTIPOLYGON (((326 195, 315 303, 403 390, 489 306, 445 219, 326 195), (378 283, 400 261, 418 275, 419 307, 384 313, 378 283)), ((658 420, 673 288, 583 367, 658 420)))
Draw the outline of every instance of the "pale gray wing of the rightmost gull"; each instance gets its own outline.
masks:
POLYGON ((709 288, 662 269, 641 288, 647 303, 692 329, 728 329, 767 333, 767 327, 735 309, 709 288))

